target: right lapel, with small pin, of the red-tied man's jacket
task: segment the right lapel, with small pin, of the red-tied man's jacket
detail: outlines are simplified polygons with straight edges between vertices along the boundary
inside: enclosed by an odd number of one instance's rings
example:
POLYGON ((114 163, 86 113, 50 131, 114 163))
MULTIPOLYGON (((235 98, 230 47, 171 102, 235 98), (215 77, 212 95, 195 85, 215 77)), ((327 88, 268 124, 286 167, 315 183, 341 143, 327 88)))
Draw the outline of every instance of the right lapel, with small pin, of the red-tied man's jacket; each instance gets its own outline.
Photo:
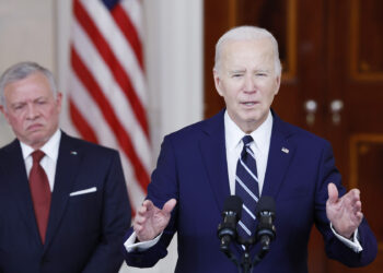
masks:
POLYGON ((69 193, 74 183, 82 155, 80 151, 72 145, 70 136, 62 132, 60 147, 56 165, 55 186, 51 195, 51 204, 49 212, 49 222, 46 235, 47 249, 55 236, 68 203, 69 193))

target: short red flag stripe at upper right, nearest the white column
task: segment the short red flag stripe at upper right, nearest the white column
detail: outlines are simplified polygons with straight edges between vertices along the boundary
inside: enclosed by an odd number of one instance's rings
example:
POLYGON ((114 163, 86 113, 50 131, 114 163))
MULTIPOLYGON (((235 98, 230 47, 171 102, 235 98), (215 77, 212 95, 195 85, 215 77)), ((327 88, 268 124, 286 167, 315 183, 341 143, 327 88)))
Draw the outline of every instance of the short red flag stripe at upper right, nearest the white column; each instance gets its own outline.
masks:
POLYGON ((136 57, 138 59, 138 62, 140 63, 140 67, 142 71, 144 70, 143 66, 143 55, 142 55, 142 45, 140 37, 136 31, 136 27, 134 26, 129 15, 125 12, 123 7, 120 4, 117 4, 113 11, 112 15, 115 19, 117 25, 119 26, 120 31, 124 33, 127 40, 129 40, 129 44, 131 48, 134 49, 136 57))

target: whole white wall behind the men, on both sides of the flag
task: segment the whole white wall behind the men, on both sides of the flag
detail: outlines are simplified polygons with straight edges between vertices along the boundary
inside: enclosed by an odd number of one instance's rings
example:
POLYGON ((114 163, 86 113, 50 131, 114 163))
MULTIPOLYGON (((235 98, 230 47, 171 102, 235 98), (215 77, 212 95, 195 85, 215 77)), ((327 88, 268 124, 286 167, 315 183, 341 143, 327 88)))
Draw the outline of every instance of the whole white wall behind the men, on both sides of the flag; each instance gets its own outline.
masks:
MULTIPOLYGON (((143 0, 149 120, 153 163, 163 136, 202 117, 202 0, 143 0)), ((71 1, 0 0, 0 72, 18 61, 33 60, 53 70, 66 92, 71 1)), ((66 105, 66 100, 65 100, 66 105)), ((72 130, 67 110, 61 127, 72 130)), ((0 146, 13 139, 0 118, 0 146)), ((169 273, 176 244, 155 268, 120 272, 169 273)))

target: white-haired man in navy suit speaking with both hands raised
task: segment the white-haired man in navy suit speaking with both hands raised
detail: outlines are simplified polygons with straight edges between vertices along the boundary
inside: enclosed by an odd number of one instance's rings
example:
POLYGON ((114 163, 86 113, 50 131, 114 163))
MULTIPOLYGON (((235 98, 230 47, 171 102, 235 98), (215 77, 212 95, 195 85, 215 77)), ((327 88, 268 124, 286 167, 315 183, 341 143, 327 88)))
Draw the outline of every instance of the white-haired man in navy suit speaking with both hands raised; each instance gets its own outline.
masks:
MULTIPOLYGON (((243 189, 247 195, 239 234, 255 234, 247 228, 247 221, 256 222, 248 199, 276 200, 277 237, 253 272, 307 272, 314 224, 329 258, 349 266, 372 262, 376 240, 363 218, 359 190, 346 193, 330 144, 283 122, 270 109, 281 78, 272 35, 252 26, 224 34, 216 47, 213 76, 227 108, 165 136, 147 200, 126 236, 127 263, 152 266, 166 256, 177 233, 176 272, 236 272, 220 251, 217 227, 227 197, 244 194, 243 189), (248 155, 256 163, 253 168, 248 155), (243 169, 253 183, 242 179, 243 169)), ((241 258, 243 249, 232 245, 233 254, 241 258)), ((252 256, 257 251, 258 246, 252 256)))

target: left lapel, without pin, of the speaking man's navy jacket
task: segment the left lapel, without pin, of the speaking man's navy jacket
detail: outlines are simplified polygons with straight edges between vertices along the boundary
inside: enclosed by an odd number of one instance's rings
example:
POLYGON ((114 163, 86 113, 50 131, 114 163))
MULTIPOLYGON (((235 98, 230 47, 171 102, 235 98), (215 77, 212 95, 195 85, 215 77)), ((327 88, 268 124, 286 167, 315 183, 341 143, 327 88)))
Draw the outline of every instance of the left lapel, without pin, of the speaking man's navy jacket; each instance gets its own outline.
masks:
POLYGON ((225 198, 230 195, 223 114, 224 110, 204 122, 205 134, 199 143, 208 180, 220 212, 225 198))

